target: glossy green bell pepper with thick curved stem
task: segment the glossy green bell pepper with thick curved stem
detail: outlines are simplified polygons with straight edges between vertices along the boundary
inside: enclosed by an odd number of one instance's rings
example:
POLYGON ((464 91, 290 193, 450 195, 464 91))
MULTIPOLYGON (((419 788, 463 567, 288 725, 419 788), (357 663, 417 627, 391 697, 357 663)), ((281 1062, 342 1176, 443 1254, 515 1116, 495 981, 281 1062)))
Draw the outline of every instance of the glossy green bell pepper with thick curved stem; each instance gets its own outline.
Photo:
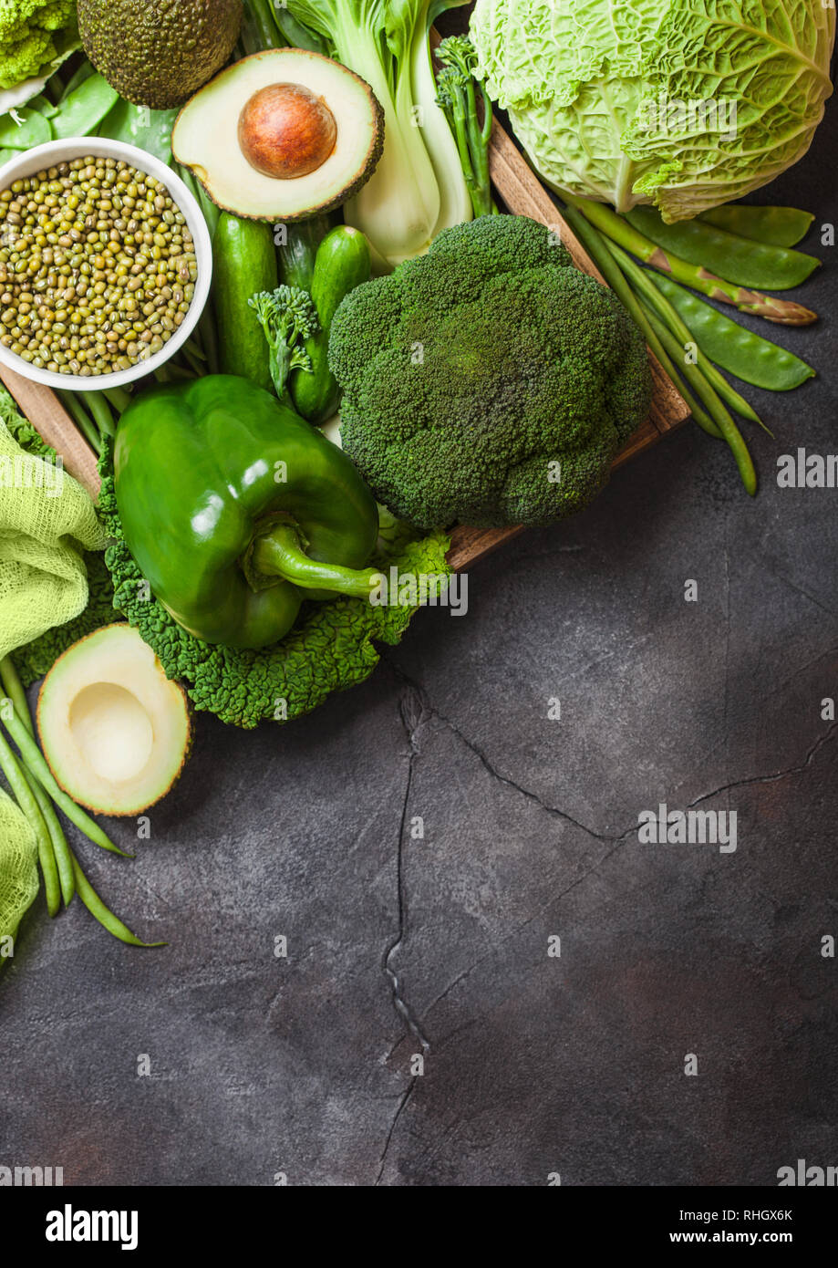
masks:
POLYGON ((122 416, 114 487, 155 596, 207 643, 281 639, 304 598, 369 597, 378 508, 355 467, 232 374, 143 392, 122 416))

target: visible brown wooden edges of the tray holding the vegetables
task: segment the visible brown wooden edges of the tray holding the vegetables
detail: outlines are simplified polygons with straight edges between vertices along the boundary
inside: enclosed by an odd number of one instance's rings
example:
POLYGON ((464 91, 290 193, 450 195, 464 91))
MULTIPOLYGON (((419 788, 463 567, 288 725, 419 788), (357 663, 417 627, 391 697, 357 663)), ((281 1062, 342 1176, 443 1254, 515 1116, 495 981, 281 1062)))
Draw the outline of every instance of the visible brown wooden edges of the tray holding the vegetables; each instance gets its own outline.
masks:
MULTIPOLYGON (((534 221, 558 228, 574 264, 602 281, 596 265, 563 221, 555 203, 497 120, 494 120, 489 143, 489 170, 496 191, 508 212, 516 216, 529 216, 534 221)), ((649 354, 649 363, 654 379, 652 410, 644 425, 634 434, 625 449, 617 454, 615 467, 628 462, 629 458, 650 445, 655 445, 662 436, 678 427, 690 416, 686 402, 652 354, 649 354)), ((99 473, 95 454, 55 392, 39 383, 24 379, 4 365, 0 365, 0 378, 47 444, 62 455, 65 468, 84 484, 93 498, 96 498, 99 496, 99 473)), ((468 568, 521 531, 520 526, 512 529, 458 526, 451 534, 449 563, 456 571, 468 568)))

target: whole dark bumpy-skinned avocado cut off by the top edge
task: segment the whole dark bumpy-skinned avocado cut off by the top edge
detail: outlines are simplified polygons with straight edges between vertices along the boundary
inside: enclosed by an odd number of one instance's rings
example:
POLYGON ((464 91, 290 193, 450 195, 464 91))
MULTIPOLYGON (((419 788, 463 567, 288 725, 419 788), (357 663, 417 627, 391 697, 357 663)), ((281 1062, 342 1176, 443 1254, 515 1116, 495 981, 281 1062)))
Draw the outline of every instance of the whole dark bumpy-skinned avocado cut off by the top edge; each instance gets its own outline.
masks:
POLYGON ((221 70, 241 30, 241 0, 79 0, 87 57, 120 96, 169 110, 221 70))

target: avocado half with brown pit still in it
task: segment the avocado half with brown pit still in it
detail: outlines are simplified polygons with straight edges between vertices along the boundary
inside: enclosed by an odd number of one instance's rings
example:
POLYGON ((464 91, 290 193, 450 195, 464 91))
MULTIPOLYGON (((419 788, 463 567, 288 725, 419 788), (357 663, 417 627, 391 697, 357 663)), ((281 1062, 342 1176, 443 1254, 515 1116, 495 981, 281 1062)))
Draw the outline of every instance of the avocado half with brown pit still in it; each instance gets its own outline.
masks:
POLYGON ((328 212, 369 180, 384 113, 354 71, 303 48, 254 53, 186 103, 171 134, 218 207, 256 221, 328 212))

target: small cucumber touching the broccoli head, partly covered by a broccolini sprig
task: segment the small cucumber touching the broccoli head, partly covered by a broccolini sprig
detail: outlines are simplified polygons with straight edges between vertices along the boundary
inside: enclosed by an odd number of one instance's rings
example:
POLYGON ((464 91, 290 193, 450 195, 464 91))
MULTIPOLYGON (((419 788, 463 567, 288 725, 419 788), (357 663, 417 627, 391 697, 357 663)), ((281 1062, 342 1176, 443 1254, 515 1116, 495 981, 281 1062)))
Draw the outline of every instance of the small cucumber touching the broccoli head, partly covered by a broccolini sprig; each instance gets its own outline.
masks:
POLYGON ((327 233, 314 259, 311 295, 319 317, 319 331, 306 340, 312 359, 311 373, 294 370, 290 393, 298 413, 314 425, 326 422, 337 410, 340 389, 328 368, 328 335, 341 299, 369 281, 369 243, 359 230, 338 224, 327 233))

